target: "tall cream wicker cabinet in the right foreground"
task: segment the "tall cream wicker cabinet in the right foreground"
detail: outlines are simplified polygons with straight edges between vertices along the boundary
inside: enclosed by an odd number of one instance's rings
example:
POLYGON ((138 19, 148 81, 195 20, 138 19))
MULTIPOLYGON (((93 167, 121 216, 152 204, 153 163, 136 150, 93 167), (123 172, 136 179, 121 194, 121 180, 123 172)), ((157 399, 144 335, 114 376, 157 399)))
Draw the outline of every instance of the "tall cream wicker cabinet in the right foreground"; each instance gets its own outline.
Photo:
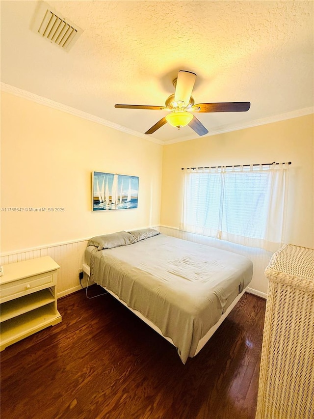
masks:
POLYGON ((314 249, 285 245, 265 275, 256 419, 314 419, 314 249))

